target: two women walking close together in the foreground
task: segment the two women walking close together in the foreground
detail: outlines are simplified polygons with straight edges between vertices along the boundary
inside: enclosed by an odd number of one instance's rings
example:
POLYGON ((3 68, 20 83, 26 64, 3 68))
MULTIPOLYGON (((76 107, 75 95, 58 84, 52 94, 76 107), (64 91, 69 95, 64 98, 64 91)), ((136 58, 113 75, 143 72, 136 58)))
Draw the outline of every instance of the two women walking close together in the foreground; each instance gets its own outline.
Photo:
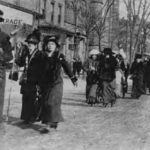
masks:
POLYGON ((21 119, 25 124, 41 121, 41 133, 48 133, 63 121, 61 100, 63 96, 62 68, 76 85, 68 62, 60 52, 57 36, 44 38, 42 51, 38 50, 40 35, 37 30, 26 38, 16 57, 16 64, 24 67, 20 77, 22 94, 21 119), (41 99, 41 100, 40 100, 41 99), (38 100, 38 103, 37 103, 38 100))

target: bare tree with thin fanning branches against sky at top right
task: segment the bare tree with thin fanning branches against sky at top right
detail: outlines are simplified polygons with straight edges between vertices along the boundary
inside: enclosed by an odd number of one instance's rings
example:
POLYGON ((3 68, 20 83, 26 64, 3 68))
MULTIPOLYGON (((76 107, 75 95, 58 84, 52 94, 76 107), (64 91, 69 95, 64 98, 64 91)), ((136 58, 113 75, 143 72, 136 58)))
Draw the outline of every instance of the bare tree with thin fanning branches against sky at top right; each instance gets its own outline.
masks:
POLYGON ((149 0, 123 0, 127 9, 130 63, 138 51, 142 29, 150 16, 149 0))

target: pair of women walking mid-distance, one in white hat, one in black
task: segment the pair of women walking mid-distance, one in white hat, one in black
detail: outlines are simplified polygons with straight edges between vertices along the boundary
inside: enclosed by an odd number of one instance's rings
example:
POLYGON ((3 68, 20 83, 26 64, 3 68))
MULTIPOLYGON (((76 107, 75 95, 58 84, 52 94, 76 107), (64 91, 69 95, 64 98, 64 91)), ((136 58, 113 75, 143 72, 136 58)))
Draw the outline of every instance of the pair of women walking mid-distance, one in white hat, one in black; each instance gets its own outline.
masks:
POLYGON ((117 59, 113 56, 111 48, 105 48, 102 54, 96 49, 90 52, 89 59, 84 65, 84 70, 87 72, 86 102, 88 104, 102 102, 104 107, 109 103, 111 106, 114 104, 116 68, 117 59))

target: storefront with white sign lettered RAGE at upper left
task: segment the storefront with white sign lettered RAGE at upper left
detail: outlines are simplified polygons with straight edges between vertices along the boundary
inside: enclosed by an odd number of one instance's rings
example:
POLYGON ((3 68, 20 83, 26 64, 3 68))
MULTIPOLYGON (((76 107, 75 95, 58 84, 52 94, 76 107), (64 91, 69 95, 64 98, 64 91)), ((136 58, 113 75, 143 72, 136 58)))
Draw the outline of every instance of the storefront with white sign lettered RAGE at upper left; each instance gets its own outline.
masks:
POLYGON ((15 5, 1 3, 0 10, 4 13, 4 22, 0 23, 2 31, 10 35, 18 30, 17 36, 20 38, 25 38, 31 32, 34 23, 33 13, 15 5))

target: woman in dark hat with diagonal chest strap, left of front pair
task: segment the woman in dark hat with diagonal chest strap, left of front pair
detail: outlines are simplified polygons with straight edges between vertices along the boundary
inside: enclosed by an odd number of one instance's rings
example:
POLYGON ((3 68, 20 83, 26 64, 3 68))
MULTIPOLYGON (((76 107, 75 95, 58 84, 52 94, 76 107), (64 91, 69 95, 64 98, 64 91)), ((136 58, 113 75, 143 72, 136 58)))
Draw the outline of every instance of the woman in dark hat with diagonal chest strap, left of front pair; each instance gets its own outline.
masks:
POLYGON ((38 50, 40 40, 38 36, 35 32, 27 36, 27 46, 23 48, 21 56, 15 60, 17 65, 24 66, 20 85, 22 94, 21 119, 25 124, 34 122, 37 117, 34 104, 40 85, 41 68, 43 68, 42 52, 38 50))

